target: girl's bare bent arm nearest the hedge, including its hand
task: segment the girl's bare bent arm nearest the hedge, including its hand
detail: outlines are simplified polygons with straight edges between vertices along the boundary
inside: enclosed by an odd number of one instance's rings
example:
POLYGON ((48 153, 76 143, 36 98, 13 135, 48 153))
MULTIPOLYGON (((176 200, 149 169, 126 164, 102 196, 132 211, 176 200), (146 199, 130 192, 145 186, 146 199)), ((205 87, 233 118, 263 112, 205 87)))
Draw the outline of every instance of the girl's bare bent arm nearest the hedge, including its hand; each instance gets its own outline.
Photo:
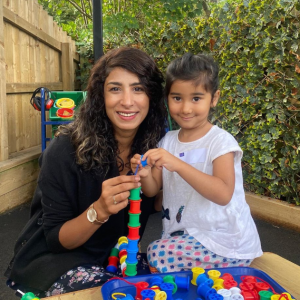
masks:
POLYGON ((195 169, 161 148, 149 150, 144 157, 158 171, 165 167, 170 172, 177 172, 199 194, 216 204, 226 205, 232 198, 235 185, 233 152, 213 161, 213 175, 195 169))

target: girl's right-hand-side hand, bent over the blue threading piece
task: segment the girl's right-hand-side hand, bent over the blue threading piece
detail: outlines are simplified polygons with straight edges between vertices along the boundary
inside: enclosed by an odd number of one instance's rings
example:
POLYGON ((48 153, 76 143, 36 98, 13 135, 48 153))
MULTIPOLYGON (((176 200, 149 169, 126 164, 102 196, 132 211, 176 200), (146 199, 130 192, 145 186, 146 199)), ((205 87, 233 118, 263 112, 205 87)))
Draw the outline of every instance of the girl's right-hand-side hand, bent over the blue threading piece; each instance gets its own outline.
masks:
POLYGON ((147 151, 143 159, 147 160, 150 167, 155 166, 159 170, 165 167, 170 172, 177 172, 178 165, 181 162, 179 158, 162 148, 147 151))

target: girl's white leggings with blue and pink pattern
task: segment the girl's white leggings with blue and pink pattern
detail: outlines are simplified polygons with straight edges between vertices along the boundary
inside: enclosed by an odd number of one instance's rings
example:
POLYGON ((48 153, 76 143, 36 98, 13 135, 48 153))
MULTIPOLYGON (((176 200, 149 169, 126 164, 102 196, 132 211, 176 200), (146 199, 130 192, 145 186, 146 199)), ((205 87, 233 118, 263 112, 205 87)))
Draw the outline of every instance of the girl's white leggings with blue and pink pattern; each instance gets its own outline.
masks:
POLYGON ((206 249, 194 237, 184 234, 152 242, 147 249, 151 273, 249 266, 252 259, 226 258, 206 249))

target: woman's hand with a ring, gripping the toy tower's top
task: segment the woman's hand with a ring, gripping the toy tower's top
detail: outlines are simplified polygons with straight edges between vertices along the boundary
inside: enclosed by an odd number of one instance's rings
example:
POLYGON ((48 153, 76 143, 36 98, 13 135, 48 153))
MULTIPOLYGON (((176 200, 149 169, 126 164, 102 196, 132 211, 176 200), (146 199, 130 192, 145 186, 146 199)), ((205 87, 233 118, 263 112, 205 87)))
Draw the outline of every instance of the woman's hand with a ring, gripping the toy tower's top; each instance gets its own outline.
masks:
POLYGON ((100 198, 94 203, 98 220, 106 220, 128 205, 130 190, 141 186, 138 175, 121 175, 107 179, 102 183, 100 198))

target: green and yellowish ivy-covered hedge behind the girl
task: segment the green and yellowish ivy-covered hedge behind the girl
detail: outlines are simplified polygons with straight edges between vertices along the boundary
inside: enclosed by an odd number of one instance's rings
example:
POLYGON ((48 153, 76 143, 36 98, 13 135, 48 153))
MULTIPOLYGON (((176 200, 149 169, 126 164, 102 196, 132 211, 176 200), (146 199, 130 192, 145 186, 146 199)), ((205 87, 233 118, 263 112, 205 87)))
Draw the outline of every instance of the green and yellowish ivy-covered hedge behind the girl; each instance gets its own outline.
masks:
POLYGON ((209 53, 220 66, 221 101, 213 123, 244 151, 248 191, 300 205, 300 4, 244 0, 209 18, 167 23, 142 33, 165 70, 185 52, 209 53))

